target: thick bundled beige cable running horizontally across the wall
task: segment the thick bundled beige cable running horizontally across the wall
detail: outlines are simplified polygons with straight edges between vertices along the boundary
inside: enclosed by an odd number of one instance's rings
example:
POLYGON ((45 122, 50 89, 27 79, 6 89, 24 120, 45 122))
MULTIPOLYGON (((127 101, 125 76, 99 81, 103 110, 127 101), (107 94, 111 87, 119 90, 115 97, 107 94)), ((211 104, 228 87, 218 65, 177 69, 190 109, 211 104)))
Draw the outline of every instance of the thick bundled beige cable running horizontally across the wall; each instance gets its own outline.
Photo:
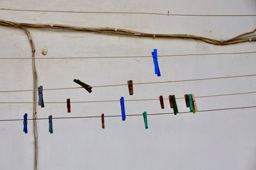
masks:
POLYGON ((144 33, 131 31, 127 29, 117 29, 117 28, 103 28, 103 27, 76 27, 70 25, 61 25, 61 24, 28 24, 28 23, 17 23, 6 20, 0 20, 0 25, 9 26, 9 27, 17 27, 15 25, 20 25, 22 27, 31 27, 35 29, 61 29, 61 30, 69 30, 69 31, 85 31, 85 32, 95 32, 100 34, 110 34, 110 35, 118 35, 118 36, 138 36, 138 37, 147 37, 147 38, 170 38, 170 39, 194 39, 198 41, 204 41, 205 43, 209 43, 212 45, 232 45, 236 43, 243 42, 251 42, 256 41, 256 29, 251 32, 246 32, 244 34, 240 34, 232 39, 227 40, 216 40, 211 38, 204 38, 201 36, 193 36, 189 34, 152 34, 152 33, 144 33), (250 34, 253 34, 248 38, 250 34))

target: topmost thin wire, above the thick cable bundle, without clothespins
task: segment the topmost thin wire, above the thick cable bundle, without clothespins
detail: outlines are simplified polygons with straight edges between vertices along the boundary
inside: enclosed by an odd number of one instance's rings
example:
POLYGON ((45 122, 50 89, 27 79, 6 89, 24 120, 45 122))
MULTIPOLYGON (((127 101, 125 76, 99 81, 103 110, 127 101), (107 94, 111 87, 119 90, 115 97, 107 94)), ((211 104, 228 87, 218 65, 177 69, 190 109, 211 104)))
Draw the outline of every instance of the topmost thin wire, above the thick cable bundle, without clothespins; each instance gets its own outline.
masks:
POLYGON ((142 15, 167 15, 167 16, 180 16, 180 17, 255 17, 256 14, 244 15, 202 15, 202 14, 180 14, 180 13, 152 13, 152 12, 128 12, 128 11, 60 11, 60 10, 22 10, 1 8, 0 10, 6 11, 31 11, 31 12, 54 12, 54 13, 98 13, 98 14, 142 14, 142 15))

